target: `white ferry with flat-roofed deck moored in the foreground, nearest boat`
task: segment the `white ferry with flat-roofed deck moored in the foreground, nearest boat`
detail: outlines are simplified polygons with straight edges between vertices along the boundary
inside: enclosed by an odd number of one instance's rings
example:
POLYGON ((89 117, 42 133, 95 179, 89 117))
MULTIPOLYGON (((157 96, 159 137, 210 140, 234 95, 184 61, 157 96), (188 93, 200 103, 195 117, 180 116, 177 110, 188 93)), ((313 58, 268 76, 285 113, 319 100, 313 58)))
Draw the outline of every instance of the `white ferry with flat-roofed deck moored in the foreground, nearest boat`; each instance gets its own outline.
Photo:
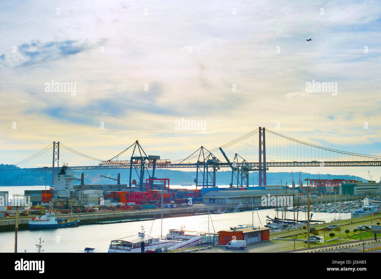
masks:
POLYGON ((148 250, 172 247, 184 241, 160 240, 160 237, 152 237, 145 234, 144 227, 138 235, 131 235, 117 240, 112 240, 109 253, 141 253, 148 250))

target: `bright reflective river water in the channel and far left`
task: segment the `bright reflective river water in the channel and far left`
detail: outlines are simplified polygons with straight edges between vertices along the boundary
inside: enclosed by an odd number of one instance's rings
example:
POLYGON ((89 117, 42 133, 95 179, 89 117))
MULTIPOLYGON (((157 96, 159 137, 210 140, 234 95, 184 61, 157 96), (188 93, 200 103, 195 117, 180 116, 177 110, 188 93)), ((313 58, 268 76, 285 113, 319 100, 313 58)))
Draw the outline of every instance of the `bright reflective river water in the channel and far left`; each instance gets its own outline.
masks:
MULTIPOLYGON (((24 190, 45 189, 44 186, 12 186, 0 187, 0 191, 9 191, 9 197, 13 194, 24 194, 24 190)), ((197 232, 218 232, 219 230, 229 230, 229 227, 243 224, 263 226, 266 223, 266 216, 275 216, 274 209, 243 211, 237 213, 211 214, 187 217, 175 217, 163 219, 163 235, 170 229, 180 229, 182 225, 186 230, 197 232), (209 221, 209 222, 208 222, 209 221)), ((279 212, 279 218, 281 218, 279 212)), ((286 218, 292 219, 293 212, 287 212, 286 218)), ((295 213, 296 214, 296 213, 295 213)), ((335 213, 313 213, 313 220, 324 219, 332 221, 335 213)), ((336 213, 336 218, 348 219, 350 213, 336 213)), ((299 211, 299 219, 305 220, 306 213, 299 211)), ((83 251, 85 247, 92 247, 100 251, 107 252, 110 241, 125 236, 136 235, 144 227, 146 234, 160 236, 161 219, 155 221, 140 221, 118 224, 88 224, 73 228, 61 228, 50 230, 19 230, 18 232, 18 252, 36 252, 35 244, 42 237, 43 249, 45 252, 74 252, 83 251)), ((14 231, 0 232, 0 252, 14 252, 14 231)))

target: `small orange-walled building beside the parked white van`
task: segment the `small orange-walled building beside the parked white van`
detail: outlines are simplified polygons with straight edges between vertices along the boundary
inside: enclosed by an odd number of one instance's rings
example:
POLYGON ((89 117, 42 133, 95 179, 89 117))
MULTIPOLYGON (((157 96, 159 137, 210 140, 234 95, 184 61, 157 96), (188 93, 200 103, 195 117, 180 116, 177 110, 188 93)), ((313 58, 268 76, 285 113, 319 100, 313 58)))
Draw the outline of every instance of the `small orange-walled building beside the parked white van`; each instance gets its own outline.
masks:
POLYGON ((246 240, 247 244, 270 239, 270 229, 245 228, 237 230, 220 230, 218 232, 218 244, 226 245, 232 240, 246 240))

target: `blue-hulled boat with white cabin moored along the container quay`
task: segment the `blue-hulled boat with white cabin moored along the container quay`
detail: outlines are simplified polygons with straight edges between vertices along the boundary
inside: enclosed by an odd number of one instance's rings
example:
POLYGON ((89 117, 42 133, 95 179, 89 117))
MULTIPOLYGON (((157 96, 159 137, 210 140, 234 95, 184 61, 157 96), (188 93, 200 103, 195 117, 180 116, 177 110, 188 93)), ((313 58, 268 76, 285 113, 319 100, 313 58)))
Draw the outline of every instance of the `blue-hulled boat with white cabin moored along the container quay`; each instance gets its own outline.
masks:
POLYGON ((73 219, 57 219, 56 213, 50 208, 47 214, 30 218, 28 229, 56 229, 62 227, 74 227, 79 223, 79 218, 73 219))

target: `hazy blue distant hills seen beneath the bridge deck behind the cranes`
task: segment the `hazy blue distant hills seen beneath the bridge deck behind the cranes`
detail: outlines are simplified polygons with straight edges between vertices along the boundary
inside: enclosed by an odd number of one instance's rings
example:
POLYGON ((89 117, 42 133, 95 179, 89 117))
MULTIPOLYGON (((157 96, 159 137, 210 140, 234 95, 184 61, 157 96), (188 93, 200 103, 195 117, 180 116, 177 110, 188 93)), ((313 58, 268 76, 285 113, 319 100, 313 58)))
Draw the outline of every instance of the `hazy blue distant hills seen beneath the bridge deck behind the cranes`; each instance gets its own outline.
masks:
MULTIPOLYGON (((31 186, 31 185, 45 185, 45 172, 25 172, 25 171, 14 171, 14 169, 19 169, 14 165, 4 165, 0 164, 0 171, 12 170, 10 172, 0 172, 0 185, 1 186, 31 186)), ((128 184, 128 177, 130 175, 130 170, 120 169, 120 170, 84 170, 85 174, 85 184, 116 184, 115 180, 110 180, 108 178, 100 178, 99 175, 111 175, 111 177, 116 178, 117 173, 120 172, 120 183, 128 184)), ((79 175, 80 171, 73 172, 79 175)), ((150 171, 150 173, 152 173, 150 171)), ((200 175, 200 174, 199 174, 200 175)), ((231 182, 231 171, 218 171, 216 172, 216 184, 217 185, 229 185, 231 182)), ((77 176, 79 178, 79 176, 77 176)), ((171 185, 179 185, 182 181, 194 182, 196 178, 196 172, 183 172, 181 170, 165 170, 158 169, 155 170, 155 177, 157 178, 170 178, 171 185)), ((295 184, 298 184, 298 173, 294 173, 295 184)), ((305 178, 317 179, 317 174, 311 173, 301 173, 302 180, 305 178)), ((148 175, 145 175, 148 178, 148 175)), ((249 174, 249 184, 258 185, 258 172, 249 174)), ((368 181, 361 177, 351 177, 351 175, 330 175, 321 174, 321 179, 355 179, 368 181)), ((138 180, 138 175, 133 170, 133 179, 138 180)), ((201 178, 199 177, 199 181, 201 178)), ((291 172, 267 172, 267 184, 291 184, 291 172)), ((51 172, 47 174, 47 184, 51 183, 51 172)), ((235 184, 237 182, 235 181, 235 184)), ((74 184, 79 184, 79 181, 74 181, 74 184)), ((233 183, 234 184, 234 183, 233 183)), ((305 181, 303 181, 305 184, 305 181)))

